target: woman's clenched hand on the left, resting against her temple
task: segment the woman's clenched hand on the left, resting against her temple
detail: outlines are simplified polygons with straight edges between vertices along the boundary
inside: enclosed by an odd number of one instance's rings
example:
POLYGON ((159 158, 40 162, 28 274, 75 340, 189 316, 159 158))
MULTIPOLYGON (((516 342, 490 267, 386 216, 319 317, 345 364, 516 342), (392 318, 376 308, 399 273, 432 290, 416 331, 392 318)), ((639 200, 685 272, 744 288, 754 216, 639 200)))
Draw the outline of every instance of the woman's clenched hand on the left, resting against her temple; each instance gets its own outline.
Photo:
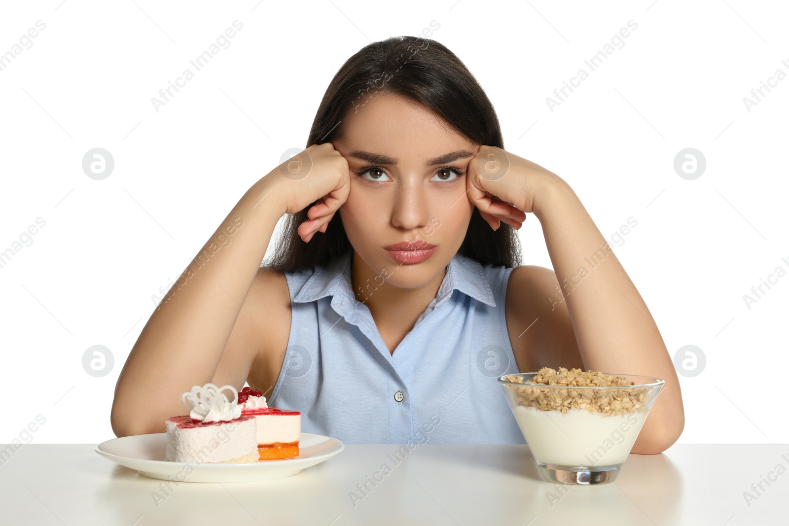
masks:
POLYGON ((309 219, 298 227, 301 239, 309 241, 319 230, 325 233, 350 193, 350 168, 334 144, 312 144, 272 170, 274 173, 286 214, 315 203, 307 211, 309 219))

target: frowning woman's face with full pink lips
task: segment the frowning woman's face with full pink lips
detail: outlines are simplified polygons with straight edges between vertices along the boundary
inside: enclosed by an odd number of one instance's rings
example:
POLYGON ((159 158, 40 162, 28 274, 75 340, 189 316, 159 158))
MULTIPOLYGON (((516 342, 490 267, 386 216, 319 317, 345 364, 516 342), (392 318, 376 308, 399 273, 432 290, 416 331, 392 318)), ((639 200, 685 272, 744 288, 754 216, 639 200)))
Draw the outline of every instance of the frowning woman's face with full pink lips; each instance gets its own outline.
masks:
POLYGON ((390 285, 430 282, 466 237, 474 205, 465 173, 479 145, 395 95, 376 95, 349 112, 342 130, 332 144, 350 167, 340 218, 354 251, 390 285), (399 241, 427 241, 436 250, 420 263, 398 263, 384 247, 399 241))

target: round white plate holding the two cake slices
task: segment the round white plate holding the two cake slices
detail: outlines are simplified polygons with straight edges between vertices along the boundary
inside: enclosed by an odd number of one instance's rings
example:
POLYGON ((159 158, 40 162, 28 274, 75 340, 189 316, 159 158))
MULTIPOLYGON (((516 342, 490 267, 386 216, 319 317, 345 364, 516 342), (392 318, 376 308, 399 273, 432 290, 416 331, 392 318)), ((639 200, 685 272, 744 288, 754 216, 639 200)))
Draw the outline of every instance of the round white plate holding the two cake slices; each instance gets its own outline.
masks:
POLYGON ((113 438, 96 446, 95 452, 140 475, 178 482, 250 482, 280 479, 320 464, 345 448, 337 438, 301 433, 298 457, 241 464, 170 462, 164 460, 166 433, 113 438))

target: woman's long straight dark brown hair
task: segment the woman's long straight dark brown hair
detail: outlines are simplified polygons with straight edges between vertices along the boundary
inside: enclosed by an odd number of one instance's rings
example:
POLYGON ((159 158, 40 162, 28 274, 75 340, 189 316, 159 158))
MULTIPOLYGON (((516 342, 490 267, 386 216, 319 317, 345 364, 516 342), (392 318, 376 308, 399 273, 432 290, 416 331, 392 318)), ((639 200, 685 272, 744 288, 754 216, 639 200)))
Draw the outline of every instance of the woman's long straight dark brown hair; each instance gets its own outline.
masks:
MULTIPOLYGON (((338 124, 345 115, 376 94, 399 95, 421 104, 475 144, 504 147, 493 105, 466 65, 436 40, 414 36, 368 44, 342 65, 320 102, 307 147, 338 139, 342 135, 338 124)), ((316 233, 308 243, 301 239, 297 229, 316 202, 286 215, 282 241, 264 267, 294 272, 328 263, 352 248, 339 211, 325 233, 316 233)), ((493 230, 474 207, 458 254, 482 264, 518 267, 518 232, 505 222, 493 230)))

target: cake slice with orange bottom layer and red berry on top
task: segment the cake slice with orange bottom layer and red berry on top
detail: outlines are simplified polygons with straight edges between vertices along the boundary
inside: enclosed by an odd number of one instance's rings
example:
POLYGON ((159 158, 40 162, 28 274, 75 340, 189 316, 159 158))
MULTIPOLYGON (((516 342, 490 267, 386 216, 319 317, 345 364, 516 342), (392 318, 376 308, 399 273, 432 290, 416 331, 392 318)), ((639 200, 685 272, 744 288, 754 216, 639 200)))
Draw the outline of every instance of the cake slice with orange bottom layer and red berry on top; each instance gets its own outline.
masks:
POLYGON ((249 386, 238 394, 238 405, 242 418, 255 417, 260 460, 298 457, 301 412, 268 407, 263 393, 249 386))

